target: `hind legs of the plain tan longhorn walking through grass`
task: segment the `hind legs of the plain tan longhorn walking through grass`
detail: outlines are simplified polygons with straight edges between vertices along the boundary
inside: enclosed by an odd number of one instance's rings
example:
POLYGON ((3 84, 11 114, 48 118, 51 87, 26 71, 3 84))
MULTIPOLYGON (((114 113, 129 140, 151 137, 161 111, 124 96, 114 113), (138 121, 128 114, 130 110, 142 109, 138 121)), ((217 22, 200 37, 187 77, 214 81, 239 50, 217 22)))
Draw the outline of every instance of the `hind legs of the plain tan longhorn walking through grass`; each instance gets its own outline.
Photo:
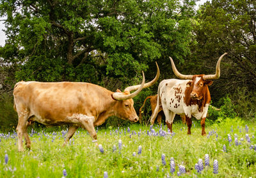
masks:
POLYGON ((27 129, 26 129, 26 123, 28 121, 28 116, 29 116, 28 109, 19 110, 18 116, 19 116, 19 122, 16 128, 17 137, 18 137, 18 150, 24 151, 23 145, 22 145, 22 136, 24 136, 24 138, 26 139, 27 147, 28 146, 30 147, 30 140, 28 137, 27 129))

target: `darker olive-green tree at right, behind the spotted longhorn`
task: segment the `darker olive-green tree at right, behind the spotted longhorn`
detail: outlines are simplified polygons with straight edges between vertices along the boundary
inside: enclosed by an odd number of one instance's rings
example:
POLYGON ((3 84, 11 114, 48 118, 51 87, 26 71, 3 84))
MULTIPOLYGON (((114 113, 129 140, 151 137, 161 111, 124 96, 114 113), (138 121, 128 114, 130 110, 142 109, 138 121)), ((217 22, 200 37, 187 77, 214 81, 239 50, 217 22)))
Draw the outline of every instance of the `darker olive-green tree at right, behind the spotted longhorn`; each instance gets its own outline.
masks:
POLYGON ((204 66, 214 68, 218 56, 228 52, 214 94, 220 98, 241 86, 255 92, 256 1, 212 0, 200 8, 197 20, 196 52, 204 66))

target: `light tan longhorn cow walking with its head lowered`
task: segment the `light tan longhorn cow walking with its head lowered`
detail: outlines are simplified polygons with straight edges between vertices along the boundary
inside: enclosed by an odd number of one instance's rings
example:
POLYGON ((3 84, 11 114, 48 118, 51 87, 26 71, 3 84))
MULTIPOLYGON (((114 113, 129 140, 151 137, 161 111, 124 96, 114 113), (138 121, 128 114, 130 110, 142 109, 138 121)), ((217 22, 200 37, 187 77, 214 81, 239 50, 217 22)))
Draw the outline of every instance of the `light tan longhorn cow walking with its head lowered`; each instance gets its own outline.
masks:
POLYGON ((13 89, 13 97, 14 109, 19 116, 19 151, 24 151, 22 137, 26 140, 26 147, 31 146, 27 127, 33 121, 49 126, 68 124, 63 145, 67 144, 79 127, 87 130, 93 142, 96 142, 94 126, 99 126, 111 115, 138 121, 132 98, 143 88, 153 85, 158 78, 157 66, 157 75, 152 81, 145 84, 143 73, 142 83, 127 87, 124 93, 120 90, 113 93, 99 85, 85 82, 18 82, 13 89))

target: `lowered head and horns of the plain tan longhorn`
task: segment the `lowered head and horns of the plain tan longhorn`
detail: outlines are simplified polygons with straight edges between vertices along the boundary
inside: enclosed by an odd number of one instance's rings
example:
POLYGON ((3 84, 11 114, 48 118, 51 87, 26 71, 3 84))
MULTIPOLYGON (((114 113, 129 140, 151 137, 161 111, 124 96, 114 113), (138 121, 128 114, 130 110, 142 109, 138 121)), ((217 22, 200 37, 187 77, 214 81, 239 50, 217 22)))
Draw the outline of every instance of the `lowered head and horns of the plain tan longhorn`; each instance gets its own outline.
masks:
POLYGON ((157 66, 157 74, 152 81, 147 82, 145 84, 145 77, 142 71, 143 80, 140 85, 129 86, 125 88, 124 92, 117 90, 115 93, 112 94, 113 99, 116 100, 116 103, 115 103, 116 116, 125 120, 128 119, 129 121, 132 121, 132 122, 139 121, 139 117, 136 114, 136 111, 133 107, 134 101, 132 100, 132 98, 137 96, 143 88, 150 87, 151 85, 156 83, 160 75, 160 71, 157 63, 156 63, 156 66, 157 66), (131 93, 131 91, 134 91, 134 93, 131 93))

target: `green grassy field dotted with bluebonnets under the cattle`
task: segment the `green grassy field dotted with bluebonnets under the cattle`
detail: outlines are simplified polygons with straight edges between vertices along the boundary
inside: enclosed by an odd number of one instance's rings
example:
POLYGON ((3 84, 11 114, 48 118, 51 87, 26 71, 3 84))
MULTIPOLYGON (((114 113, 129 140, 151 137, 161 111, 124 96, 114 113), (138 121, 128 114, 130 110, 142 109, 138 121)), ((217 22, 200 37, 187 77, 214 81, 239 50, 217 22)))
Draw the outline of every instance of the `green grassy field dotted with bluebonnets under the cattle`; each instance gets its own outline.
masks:
POLYGON ((255 123, 225 119, 209 126, 206 122, 206 137, 201 136, 198 121, 193 123, 192 135, 186 134, 182 123, 173 124, 173 134, 166 126, 154 125, 150 130, 132 124, 129 129, 99 129, 103 153, 84 130, 77 131, 66 147, 62 147, 66 130, 30 131, 31 150, 25 152, 17 151, 15 133, 2 133, 0 177, 104 177, 104 172, 108 177, 256 177, 255 123), (209 155, 207 166, 205 154, 209 155), (175 163, 172 169, 171 158, 175 163), (197 170, 196 163, 201 166, 197 170))

